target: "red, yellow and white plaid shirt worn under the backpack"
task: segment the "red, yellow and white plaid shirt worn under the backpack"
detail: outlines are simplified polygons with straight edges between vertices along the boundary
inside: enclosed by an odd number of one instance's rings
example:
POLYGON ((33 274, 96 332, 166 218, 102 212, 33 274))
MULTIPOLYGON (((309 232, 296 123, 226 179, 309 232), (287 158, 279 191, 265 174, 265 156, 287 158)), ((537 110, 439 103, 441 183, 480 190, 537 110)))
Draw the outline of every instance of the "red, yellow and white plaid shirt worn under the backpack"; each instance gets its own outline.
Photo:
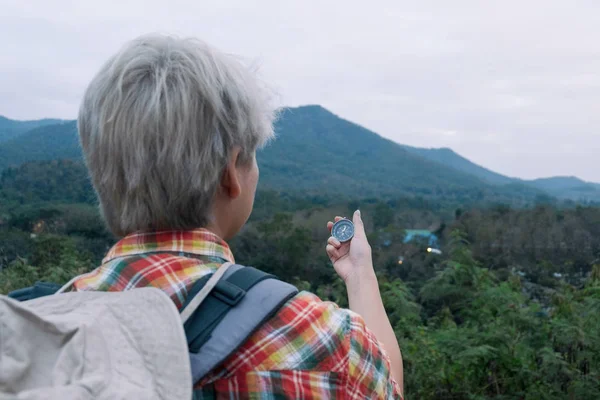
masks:
MULTIPOLYGON (((229 246, 213 233, 130 235, 76 290, 154 286, 181 308, 188 290, 224 262, 229 246)), ((301 292, 229 359, 195 385, 196 399, 399 399, 381 344, 352 311, 301 292)))

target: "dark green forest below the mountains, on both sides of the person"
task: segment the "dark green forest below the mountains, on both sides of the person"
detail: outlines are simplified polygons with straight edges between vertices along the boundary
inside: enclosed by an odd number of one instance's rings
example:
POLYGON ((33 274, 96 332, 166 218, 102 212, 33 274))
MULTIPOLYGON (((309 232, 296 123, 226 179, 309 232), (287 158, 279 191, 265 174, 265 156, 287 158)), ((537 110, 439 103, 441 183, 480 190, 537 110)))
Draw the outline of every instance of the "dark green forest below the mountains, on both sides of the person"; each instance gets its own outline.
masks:
MULTIPOLYGON (((600 208, 456 207, 421 197, 261 189, 236 261, 347 305, 325 255, 327 220, 360 208, 410 399, 600 398, 600 208), (439 238, 406 241, 409 229, 439 238)), ((64 283, 115 242, 77 161, 0 177, 0 292, 64 283)))

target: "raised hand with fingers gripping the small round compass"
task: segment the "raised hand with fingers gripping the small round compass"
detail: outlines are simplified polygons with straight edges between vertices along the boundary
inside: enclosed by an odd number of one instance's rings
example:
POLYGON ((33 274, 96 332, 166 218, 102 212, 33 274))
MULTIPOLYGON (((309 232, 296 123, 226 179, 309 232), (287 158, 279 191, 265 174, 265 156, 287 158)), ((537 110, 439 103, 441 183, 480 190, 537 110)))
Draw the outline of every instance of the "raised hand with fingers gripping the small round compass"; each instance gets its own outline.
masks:
MULTIPOLYGON (((335 217, 335 222, 342 217, 335 217)), ((354 223, 354 237, 352 240, 340 243, 334 237, 327 240, 325 248, 329 259, 333 263, 335 272, 348 284, 351 280, 360 279, 364 273, 373 273, 373 258, 371 246, 367 241, 365 227, 360 217, 360 211, 355 211, 352 218, 354 223)), ((333 222, 327 222, 327 229, 331 232, 333 222)))

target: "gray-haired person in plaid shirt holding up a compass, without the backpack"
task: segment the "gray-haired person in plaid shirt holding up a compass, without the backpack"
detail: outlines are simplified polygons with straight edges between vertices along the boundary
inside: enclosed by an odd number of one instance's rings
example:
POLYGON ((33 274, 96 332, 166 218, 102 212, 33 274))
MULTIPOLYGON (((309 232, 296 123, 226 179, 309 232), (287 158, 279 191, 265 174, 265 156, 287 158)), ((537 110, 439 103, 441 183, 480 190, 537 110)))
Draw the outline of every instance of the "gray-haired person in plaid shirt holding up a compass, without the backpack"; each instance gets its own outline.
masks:
MULTIPOLYGON (((275 114, 253 72, 200 40, 145 35, 122 47, 78 116, 100 210, 119 241, 72 290, 152 286, 181 308, 196 281, 234 262, 227 240, 252 211, 256 150, 273 138, 275 114)), ((298 293, 195 383, 196 398, 402 397, 401 353, 359 211, 353 221, 353 240, 330 238, 325 249, 350 309, 298 293)))

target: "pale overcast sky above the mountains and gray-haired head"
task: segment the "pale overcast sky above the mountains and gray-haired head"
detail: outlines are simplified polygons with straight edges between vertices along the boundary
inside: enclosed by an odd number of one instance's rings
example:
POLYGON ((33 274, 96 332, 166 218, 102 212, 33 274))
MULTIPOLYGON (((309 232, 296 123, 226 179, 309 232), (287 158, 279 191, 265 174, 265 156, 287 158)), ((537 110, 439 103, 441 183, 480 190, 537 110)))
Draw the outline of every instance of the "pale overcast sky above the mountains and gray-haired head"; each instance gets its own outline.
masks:
POLYGON ((280 105, 600 182, 600 1, 0 0, 0 115, 74 119, 100 65, 150 32, 241 56, 280 105))

